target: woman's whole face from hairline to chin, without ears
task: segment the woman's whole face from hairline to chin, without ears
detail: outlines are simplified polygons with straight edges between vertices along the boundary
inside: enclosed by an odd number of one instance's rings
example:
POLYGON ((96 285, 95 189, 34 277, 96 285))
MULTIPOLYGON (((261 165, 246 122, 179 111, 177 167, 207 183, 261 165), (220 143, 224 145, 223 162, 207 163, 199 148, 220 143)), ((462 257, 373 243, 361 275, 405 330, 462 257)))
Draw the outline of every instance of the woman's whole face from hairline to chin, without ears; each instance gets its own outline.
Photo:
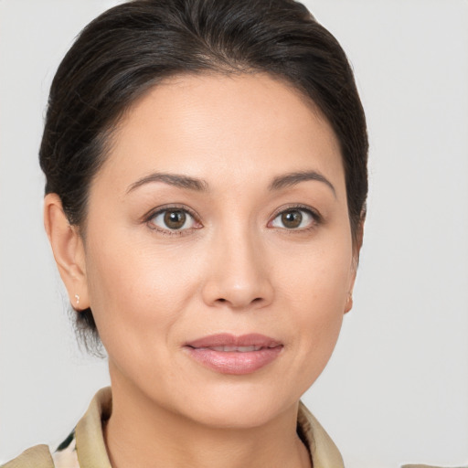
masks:
POLYGON ((203 424, 274 418, 322 372, 350 307, 335 134, 265 75, 167 80, 114 134, 83 258, 112 385, 203 424))

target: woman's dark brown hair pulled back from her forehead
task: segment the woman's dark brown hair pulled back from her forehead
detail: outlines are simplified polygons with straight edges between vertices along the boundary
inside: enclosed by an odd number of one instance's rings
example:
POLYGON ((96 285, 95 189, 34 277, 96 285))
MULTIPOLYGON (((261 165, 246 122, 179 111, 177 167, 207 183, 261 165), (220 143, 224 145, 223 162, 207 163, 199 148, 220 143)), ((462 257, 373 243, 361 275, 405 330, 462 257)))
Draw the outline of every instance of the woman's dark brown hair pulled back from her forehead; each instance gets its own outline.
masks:
MULTIPOLYGON (((269 73, 314 101, 341 145, 356 243, 367 197, 364 111, 345 52, 293 0, 135 0, 85 27, 52 82, 39 152, 46 193, 58 194, 69 223, 84 226, 90 182, 122 113, 165 78, 208 71, 269 73)), ((85 343, 99 343, 90 309, 76 317, 85 343)))

